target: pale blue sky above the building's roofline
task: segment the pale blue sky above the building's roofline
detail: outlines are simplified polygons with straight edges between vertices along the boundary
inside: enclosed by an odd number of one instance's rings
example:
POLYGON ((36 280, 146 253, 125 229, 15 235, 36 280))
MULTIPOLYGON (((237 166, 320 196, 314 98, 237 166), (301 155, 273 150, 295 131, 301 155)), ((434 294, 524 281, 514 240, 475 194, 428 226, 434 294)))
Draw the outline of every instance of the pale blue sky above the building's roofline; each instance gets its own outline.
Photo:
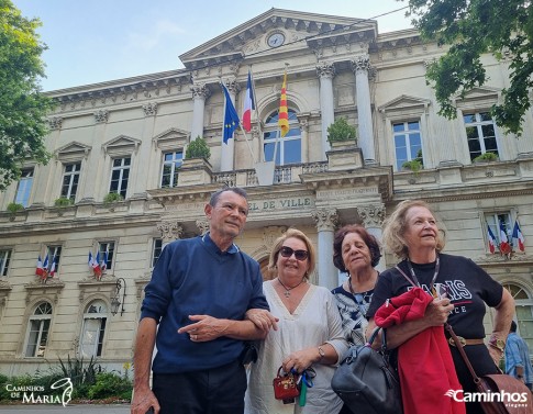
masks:
MULTIPOLYGON (((45 91, 181 68, 179 55, 273 7, 358 19, 406 7, 397 0, 12 1, 25 18, 43 22, 45 91)), ((379 32, 411 27, 404 13, 376 19, 379 32)))

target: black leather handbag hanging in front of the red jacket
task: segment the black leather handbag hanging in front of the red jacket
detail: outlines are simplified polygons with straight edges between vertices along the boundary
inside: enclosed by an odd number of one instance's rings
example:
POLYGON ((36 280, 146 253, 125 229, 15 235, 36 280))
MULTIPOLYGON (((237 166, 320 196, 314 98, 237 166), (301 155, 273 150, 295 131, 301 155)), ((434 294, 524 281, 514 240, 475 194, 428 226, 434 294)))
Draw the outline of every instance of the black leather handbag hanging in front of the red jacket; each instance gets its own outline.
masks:
POLYGON ((354 413, 401 414, 403 412, 398 372, 390 361, 386 329, 379 350, 371 344, 381 328, 376 328, 368 343, 352 345, 331 380, 333 391, 354 413))

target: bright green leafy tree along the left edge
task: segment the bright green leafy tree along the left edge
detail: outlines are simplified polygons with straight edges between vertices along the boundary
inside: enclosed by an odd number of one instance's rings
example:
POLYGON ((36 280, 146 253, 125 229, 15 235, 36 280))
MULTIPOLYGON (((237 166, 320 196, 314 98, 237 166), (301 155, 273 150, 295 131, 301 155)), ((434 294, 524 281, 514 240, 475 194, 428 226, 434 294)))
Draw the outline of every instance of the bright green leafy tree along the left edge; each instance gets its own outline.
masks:
POLYGON ((41 93, 38 19, 25 19, 11 0, 0 0, 0 190, 21 176, 24 160, 46 164, 46 113, 53 101, 41 93))

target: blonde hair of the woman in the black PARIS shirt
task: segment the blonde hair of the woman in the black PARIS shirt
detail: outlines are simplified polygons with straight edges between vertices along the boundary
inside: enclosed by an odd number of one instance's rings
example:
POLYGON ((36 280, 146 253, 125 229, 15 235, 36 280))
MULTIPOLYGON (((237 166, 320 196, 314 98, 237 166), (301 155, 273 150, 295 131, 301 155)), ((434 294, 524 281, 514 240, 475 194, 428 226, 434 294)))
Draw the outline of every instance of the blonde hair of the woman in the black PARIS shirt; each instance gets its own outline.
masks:
MULTIPOLYGON (((407 213, 411 208, 422 206, 430 211, 435 216, 435 213, 423 200, 404 200, 398 204, 388 219, 384 222, 384 237, 382 242, 387 248, 401 259, 409 257, 409 248, 403 239, 403 234, 407 230, 407 213)), ((444 248, 444 231, 438 228, 436 234, 436 251, 442 251, 444 248)))

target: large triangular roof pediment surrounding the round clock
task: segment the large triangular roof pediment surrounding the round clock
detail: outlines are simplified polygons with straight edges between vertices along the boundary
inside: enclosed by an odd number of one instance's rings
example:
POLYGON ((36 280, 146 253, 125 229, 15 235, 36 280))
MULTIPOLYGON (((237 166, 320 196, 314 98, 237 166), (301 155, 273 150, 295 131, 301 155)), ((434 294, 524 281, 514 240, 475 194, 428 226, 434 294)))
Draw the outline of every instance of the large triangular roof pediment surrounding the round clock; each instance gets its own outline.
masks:
MULTIPOLYGON (((281 49, 268 45, 268 38, 281 33, 284 46, 315 47, 352 41, 368 41, 377 36, 377 23, 326 14, 306 13, 282 9, 267 12, 221 34, 220 36, 179 56, 185 67, 198 69, 245 58, 251 54, 265 54, 281 49), (302 41, 302 42, 298 42, 302 41)), ((287 51, 287 47, 285 47, 287 51)))

